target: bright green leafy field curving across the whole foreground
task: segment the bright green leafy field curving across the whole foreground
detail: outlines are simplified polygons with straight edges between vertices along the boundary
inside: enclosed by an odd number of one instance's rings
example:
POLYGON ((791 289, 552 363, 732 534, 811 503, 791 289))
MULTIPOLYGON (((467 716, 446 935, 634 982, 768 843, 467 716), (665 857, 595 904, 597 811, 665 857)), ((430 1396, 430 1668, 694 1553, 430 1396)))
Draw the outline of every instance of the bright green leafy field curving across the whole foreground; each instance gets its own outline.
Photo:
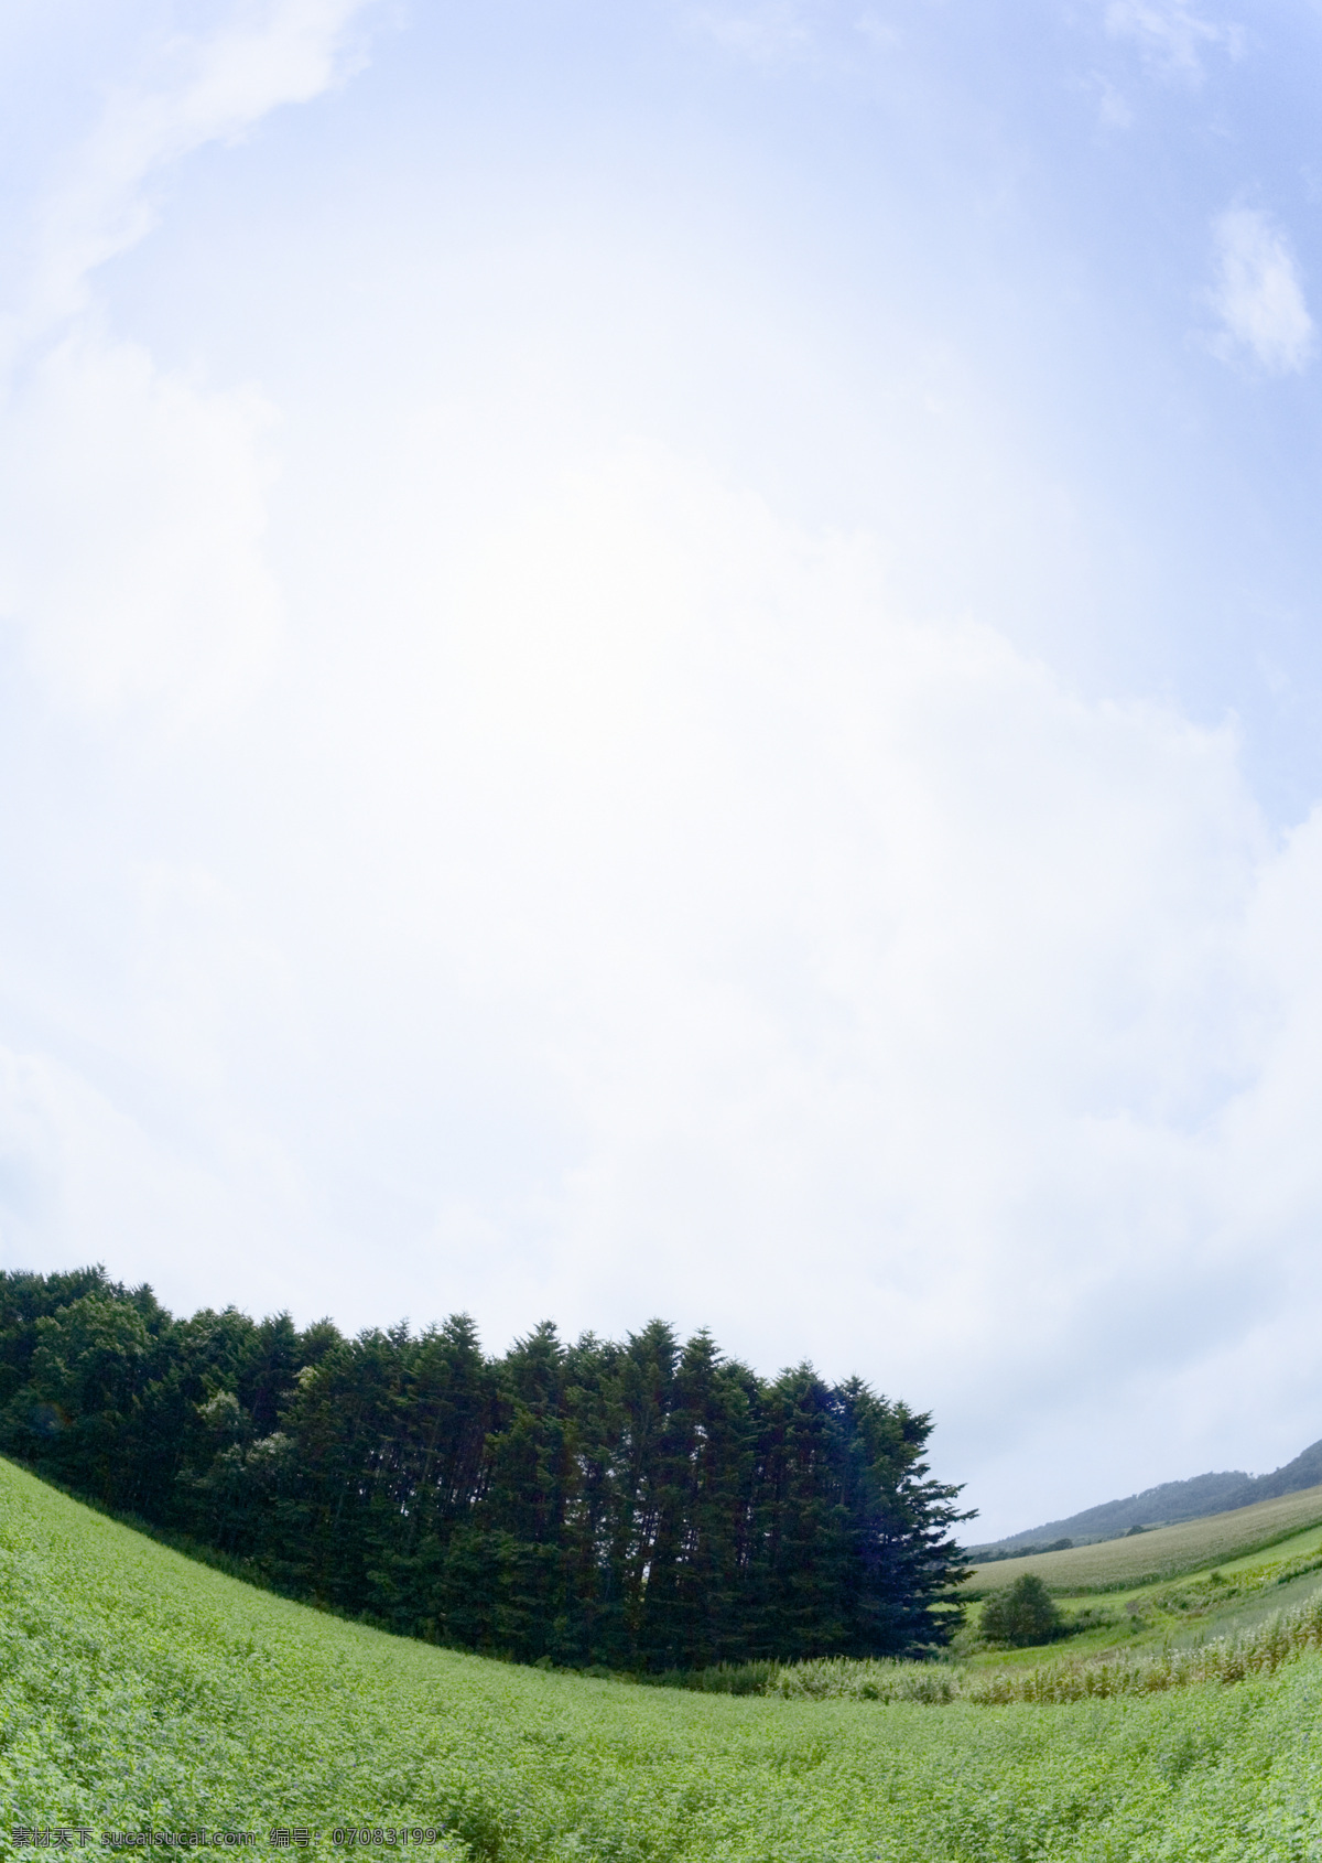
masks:
POLYGON ((22 1822, 447 1820, 508 1863, 1285 1863, 1318 1854, 1320 1705, 1313 1658, 1061 1708, 544 1675, 251 1591, 0 1462, 0 1803, 22 1822))

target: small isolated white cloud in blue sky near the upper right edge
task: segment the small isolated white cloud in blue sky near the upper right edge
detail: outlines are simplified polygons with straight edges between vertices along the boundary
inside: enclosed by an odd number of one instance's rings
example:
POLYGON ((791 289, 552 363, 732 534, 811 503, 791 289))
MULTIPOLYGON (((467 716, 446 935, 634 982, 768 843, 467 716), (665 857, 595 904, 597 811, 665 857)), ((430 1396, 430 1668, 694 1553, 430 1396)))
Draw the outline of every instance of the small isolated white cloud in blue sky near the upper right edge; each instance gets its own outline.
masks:
POLYGON ((1212 231, 1212 306, 1221 319, 1214 352, 1248 352, 1268 374, 1296 374, 1313 358, 1316 332, 1288 238, 1253 207, 1229 209, 1212 231))

